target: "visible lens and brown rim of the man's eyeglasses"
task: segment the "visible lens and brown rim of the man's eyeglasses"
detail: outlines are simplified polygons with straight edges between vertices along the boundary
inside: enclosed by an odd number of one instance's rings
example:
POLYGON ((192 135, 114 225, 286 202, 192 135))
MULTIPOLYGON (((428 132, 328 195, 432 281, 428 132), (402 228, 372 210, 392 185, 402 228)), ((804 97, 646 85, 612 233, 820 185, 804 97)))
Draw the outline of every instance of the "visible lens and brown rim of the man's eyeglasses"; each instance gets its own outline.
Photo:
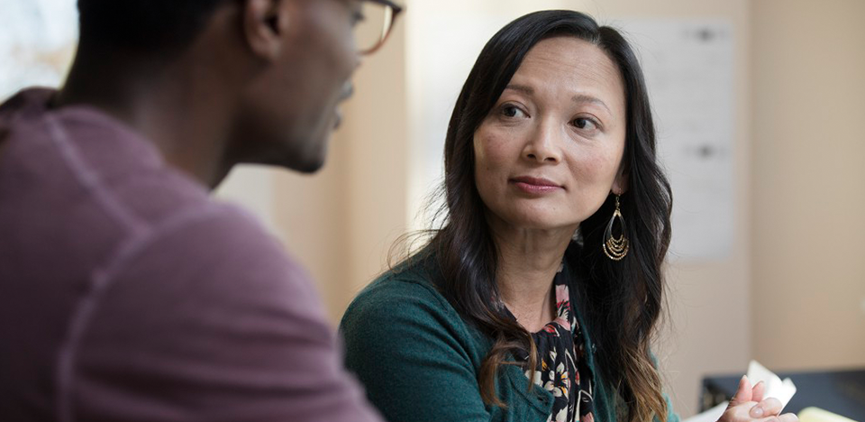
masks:
POLYGON ((396 16, 402 11, 400 5, 389 0, 360 2, 354 25, 354 40, 360 54, 372 54, 381 48, 394 29, 396 16))

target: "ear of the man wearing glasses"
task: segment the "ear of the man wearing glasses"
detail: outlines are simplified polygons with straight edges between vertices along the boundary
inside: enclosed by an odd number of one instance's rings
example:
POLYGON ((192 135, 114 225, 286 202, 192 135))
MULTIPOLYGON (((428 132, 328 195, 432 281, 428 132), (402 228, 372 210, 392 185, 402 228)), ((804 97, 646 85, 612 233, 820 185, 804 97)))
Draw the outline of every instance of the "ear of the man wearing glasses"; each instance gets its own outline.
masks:
POLYGON ((281 0, 243 0, 241 21, 243 36, 252 53, 263 60, 276 60, 283 50, 288 14, 281 0))

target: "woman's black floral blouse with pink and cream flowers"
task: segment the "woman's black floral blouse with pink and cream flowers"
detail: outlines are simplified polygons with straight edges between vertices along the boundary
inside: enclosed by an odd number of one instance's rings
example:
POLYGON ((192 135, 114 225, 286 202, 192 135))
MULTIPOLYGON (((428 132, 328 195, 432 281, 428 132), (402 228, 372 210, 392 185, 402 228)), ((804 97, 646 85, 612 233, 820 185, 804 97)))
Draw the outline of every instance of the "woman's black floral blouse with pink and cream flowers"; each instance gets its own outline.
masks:
MULTIPOLYGON (((556 319, 532 334, 538 349, 534 382, 553 395, 549 422, 594 422, 592 374, 577 317, 570 307, 568 284, 561 270, 553 280, 556 319)), ((519 356, 528 360, 528 353, 519 356)), ((532 379, 533 372, 525 376, 532 379)))

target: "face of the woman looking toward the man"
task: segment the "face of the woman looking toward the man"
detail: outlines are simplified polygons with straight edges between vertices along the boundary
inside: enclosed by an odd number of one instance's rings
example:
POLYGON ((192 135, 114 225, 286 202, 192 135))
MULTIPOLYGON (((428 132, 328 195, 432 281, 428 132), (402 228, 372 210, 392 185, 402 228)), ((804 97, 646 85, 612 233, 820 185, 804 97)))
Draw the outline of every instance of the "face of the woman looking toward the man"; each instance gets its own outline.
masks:
POLYGON ((474 135, 490 218, 576 230, 627 188, 624 85, 603 50, 573 37, 535 44, 474 135))

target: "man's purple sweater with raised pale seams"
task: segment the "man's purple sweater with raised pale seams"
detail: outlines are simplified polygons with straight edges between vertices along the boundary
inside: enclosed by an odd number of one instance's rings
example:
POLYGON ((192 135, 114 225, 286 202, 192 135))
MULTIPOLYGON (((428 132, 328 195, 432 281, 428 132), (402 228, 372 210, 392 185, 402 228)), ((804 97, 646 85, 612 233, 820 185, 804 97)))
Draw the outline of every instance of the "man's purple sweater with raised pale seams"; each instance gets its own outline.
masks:
POLYGON ((0 106, 0 421, 378 421, 282 247, 53 94, 0 106))

